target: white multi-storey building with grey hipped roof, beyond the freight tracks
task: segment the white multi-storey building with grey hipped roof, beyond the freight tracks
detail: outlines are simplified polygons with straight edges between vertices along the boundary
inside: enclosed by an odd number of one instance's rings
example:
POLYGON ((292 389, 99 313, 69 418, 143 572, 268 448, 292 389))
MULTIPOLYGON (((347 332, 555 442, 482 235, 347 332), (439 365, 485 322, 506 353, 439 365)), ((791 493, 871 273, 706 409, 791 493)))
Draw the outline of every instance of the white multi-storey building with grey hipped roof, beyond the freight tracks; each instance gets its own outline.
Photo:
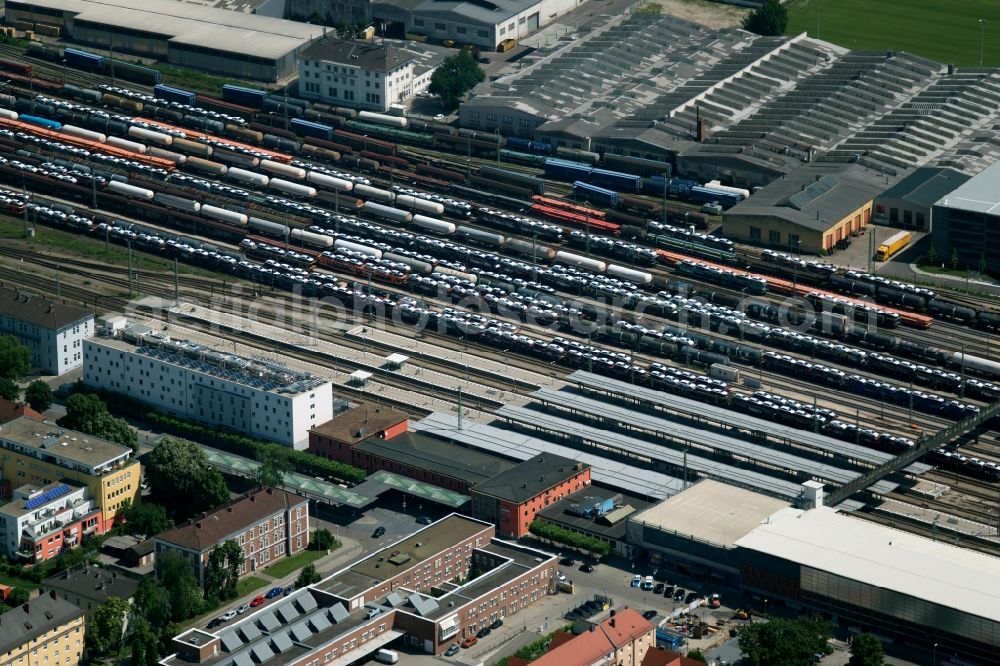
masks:
POLYGON ((382 44, 321 39, 299 60, 300 95, 324 104, 385 112, 428 85, 409 54, 382 44))

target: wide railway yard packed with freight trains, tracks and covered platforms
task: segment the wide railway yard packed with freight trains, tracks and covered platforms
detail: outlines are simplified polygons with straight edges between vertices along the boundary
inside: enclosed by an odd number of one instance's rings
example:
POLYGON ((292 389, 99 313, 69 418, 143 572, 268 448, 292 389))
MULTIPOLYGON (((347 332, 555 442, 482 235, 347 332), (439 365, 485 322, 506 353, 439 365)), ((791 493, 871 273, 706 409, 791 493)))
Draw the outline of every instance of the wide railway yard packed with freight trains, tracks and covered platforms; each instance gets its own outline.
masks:
POLYGON ((734 245, 700 212, 726 189, 644 160, 50 55, 0 48, 4 213, 200 270, 12 240, 4 283, 277 353, 425 428, 467 418, 469 446, 575 449, 650 498, 706 477, 796 501, 812 479, 1000 553, 995 301, 734 245))

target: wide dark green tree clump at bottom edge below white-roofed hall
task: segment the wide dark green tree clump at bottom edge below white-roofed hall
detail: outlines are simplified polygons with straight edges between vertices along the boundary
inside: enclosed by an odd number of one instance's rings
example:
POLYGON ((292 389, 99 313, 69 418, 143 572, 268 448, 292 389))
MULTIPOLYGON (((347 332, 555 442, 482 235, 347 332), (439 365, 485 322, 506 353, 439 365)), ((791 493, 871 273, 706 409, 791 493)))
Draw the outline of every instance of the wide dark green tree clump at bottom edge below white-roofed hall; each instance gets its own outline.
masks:
POLYGON ((747 666, 802 666, 827 651, 830 625, 818 618, 776 618, 740 630, 740 650, 747 666))

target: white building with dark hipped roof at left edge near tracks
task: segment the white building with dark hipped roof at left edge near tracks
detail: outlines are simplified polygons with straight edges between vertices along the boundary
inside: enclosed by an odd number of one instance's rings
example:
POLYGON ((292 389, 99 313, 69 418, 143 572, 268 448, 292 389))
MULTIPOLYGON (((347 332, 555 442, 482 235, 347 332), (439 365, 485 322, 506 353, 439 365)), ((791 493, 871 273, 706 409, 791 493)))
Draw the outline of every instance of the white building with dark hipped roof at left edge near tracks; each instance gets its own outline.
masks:
POLYGON ((93 312, 0 287, 0 335, 27 346, 43 373, 62 375, 83 365, 83 340, 93 334, 93 312))

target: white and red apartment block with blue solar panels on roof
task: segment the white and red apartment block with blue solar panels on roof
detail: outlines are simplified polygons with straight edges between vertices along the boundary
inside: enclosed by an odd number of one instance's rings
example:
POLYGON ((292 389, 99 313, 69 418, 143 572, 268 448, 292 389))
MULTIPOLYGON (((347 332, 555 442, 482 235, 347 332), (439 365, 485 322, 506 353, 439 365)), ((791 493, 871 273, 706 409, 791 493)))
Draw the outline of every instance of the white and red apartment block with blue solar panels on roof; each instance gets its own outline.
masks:
POLYGON ((101 525, 101 508, 87 486, 25 484, 0 506, 0 552, 29 564, 42 562, 80 545, 85 535, 102 533, 101 525))

